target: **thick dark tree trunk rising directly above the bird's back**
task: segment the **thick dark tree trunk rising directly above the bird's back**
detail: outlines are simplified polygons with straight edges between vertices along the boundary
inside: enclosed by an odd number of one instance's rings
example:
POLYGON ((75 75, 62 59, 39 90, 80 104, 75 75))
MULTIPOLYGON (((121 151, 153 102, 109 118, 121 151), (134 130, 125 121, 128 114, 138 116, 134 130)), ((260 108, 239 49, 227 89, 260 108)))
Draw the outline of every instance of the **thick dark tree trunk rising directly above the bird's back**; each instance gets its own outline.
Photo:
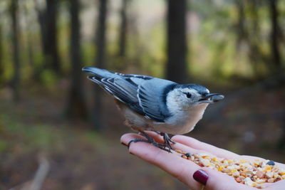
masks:
POLYGON ((168 0, 166 77, 177 83, 187 81, 186 0, 168 0))

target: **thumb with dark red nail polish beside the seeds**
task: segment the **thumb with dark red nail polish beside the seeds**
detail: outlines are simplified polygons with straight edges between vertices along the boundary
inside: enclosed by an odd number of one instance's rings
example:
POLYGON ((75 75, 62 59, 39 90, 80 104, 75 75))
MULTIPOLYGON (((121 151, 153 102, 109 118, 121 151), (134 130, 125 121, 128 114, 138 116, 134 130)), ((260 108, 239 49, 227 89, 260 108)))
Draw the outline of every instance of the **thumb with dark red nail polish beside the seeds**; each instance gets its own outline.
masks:
POLYGON ((232 176, 228 176, 219 171, 203 167, 195 171, 193 178, 201 184, 204 184, 204 190, 254 190, 251 186, 239 184, 232 176))

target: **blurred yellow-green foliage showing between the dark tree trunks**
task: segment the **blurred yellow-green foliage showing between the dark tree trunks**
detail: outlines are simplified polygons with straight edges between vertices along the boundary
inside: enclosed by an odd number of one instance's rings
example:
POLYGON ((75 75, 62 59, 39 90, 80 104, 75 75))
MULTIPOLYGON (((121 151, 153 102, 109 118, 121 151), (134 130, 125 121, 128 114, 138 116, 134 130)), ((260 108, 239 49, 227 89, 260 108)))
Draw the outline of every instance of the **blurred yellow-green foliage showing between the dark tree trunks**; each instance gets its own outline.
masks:
MULTIPOLYGON (((188 4, 188 73, 192 78, 204 80, 224 80, 232 76, 254 79, 270 74, 271 70, 271 20, 269 6, 265 1, 239 1, 244 6, 244 30, 247 38, 239 41, 239 7, 237 1, 191 1, 188 4), (255 3, 254 3, 255 2, 255 3), (254 55, 254 56, 252 56, 254 55), (207 72, 205 72, 207 71, 207 72)), ((3 46, 3 68, 1 79, 8 83, 14 73, 11 51, 11 21, 6 10, 8 1, 1 1, 0 14, 3 46)), ((165 1, 133 1, 128 7, 130 18, 127 34, 127 56, 118 53, 118 31, 120 27, 120 4, 110 4, 107 32, 107 68, 130 70, 135 73, 164 77, 166 63, 165 1), (151 4, 150 4, 151 2, 151 4)), ((43 5, 41 5, 43 6, 43 5)), ((58 51, 63 69, 63 77, 70 75, 70 15, 69 4, 58 4, 58 51)), ((81 9, 81 52, 83 65, 94 65, 95 50, 95 4, 84 1, 81 9)), ((42 8, 42 7, 41 7, 42 8)), ((285 3, 279 1, 280 36, 284 41, 285 3)), ((21 1, 19 16, 24 16, 20 24, 21 83, 37 80, 48 89, 61 75, 46 68, 43 57, 41 27, 34 1, 21 1), (25 8, 26 7, 26 8, 25 8), (24 9, 27 9, 25 12, 24 9), (31 46, 33 56, 28 56, 31 46), (33 64, 32 64, 33 63, 33 64)), ((285 43, 280 43, 280 52, 285 51, 285 43)), ((282 64, 284 56, 281 54, 282 64)), ((229 81, 229 80, 226 80, 229 81)))

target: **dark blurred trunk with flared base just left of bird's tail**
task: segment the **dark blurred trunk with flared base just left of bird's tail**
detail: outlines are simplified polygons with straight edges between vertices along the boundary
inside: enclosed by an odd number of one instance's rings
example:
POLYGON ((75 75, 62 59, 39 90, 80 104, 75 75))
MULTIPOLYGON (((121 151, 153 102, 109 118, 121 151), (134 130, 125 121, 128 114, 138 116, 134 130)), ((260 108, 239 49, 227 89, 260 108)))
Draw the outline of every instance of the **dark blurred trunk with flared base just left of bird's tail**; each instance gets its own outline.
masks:
POLYGON ((87 118, 87 108, 83 96, 82 60, 80 44, 80 3, 79 0, 70 0, 71 15, 71 88, 67 106, 67 116, 70 118, 87 118))

